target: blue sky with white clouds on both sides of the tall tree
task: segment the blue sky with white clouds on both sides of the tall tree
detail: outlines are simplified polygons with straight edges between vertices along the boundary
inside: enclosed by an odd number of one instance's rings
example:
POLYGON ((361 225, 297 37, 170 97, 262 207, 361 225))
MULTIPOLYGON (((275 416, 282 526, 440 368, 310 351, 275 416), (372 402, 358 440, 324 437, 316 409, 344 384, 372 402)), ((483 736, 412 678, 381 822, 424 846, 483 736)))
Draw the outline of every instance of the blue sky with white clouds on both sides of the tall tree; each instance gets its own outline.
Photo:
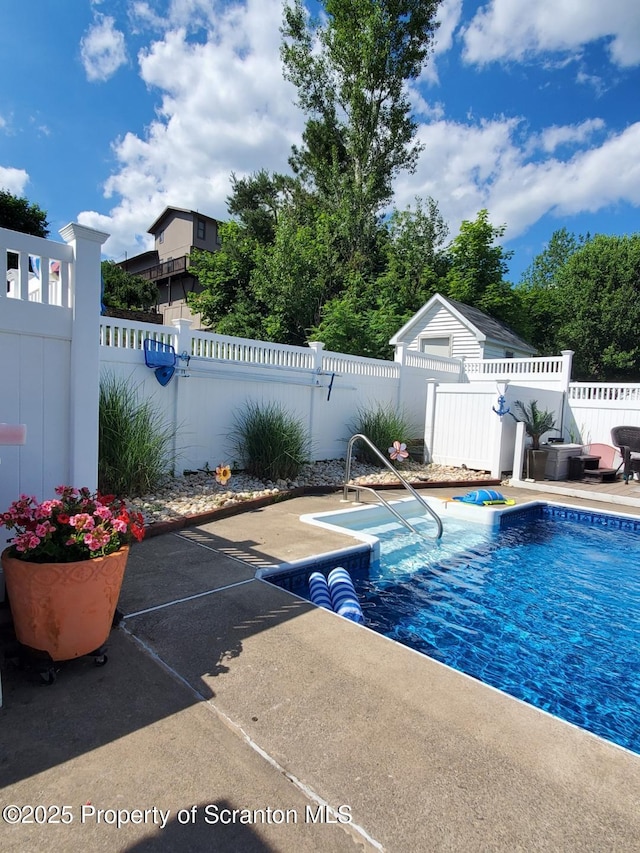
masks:
MULTIPOLYGON (((282 75, 283 0, 2 0, 0 188, 152 248, 168 205, 228 219, 230 175, 287 172, 304 116, 282 75), (10 58, 10 59, 9 59, 10 58)), ((317 10, 314 3, 314 9, 317 10)), ((453 238, 487 209, 517 283, 553 232, 640 232, 638 0, 443 0, 410 88, 414 174, 453 238)))

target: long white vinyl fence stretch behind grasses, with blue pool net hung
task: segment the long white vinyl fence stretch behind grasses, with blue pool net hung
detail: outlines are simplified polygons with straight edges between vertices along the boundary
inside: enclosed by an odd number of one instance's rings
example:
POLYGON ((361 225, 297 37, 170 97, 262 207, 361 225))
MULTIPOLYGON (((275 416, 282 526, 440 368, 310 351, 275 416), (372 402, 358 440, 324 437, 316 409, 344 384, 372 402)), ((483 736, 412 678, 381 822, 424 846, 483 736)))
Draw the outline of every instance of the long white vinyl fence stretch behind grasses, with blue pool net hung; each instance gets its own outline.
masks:
MULTIPOLYGON (((102 318, 100 363, 103 375, 132 382, 176 429, 179 471, 239 462, 233 432, 248 403, 278 403, 299 418, 311 436, 314 459, 344 456, 359 408, 401 405, 395 362, 324 352, 321 343, 290 347, 192 332, 189 321, 174 322, 171 327, 102 318), (145 335, 184 356, 165 387, 145 366, 145 335)), ((422 420, 416 429, 420 436, 422 420)))

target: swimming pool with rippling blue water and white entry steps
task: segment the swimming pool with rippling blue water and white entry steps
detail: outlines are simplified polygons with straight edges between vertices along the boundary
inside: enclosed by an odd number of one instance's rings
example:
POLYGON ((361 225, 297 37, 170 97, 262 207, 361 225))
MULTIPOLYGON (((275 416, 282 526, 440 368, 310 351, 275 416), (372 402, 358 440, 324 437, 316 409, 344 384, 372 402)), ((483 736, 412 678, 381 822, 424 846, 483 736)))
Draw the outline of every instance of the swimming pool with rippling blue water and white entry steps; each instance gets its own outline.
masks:
POLYGON ((437 543, 345 514, 378 542, 352 570, 367 625, 640 753, 640 520, 539 502, 443 515, 437 543))

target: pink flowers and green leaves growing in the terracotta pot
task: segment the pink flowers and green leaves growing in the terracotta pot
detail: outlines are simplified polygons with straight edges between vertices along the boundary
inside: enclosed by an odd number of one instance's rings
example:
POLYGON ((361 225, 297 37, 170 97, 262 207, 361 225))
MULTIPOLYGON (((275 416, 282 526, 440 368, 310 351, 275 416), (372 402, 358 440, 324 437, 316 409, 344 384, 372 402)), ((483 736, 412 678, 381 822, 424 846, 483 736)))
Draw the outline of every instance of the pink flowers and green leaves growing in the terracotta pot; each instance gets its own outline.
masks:
POLYGON ((16 530, 11 556, 32 563, 71 563, 104 557, 144 537, 142 515, 113 495, 58 486, 53 500, 22 495, 0 515, 0 526, 16 530))

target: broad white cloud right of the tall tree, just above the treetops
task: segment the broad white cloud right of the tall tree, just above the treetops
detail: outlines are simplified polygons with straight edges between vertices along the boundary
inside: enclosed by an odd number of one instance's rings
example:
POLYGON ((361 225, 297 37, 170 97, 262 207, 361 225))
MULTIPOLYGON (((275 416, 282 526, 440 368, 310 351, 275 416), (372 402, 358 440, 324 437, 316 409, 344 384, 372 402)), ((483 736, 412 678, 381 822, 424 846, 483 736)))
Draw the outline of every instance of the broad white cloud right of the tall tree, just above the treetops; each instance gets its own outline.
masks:
MULTIPOLYGON (((518 141, 518 126, 514 119, 423 126, 425 151, 416 174, 398 181, 397 205, 406 207, 416 194, 432 196, 452 233, 486 208, 495 225, 508 225, 506 239, 545 214, 596 212, 621 202, 640 206, 640 122, 564 160, 530 159, 528 146, 518 141)), ((593 127, 600 129, 597 120, 593 127)), ((576 141, 587 131, 574 128, 567 135, 573 132, 570 141, 576 141)), ((550 128, 548 134, 560 142, 563 132, 550 128)))

